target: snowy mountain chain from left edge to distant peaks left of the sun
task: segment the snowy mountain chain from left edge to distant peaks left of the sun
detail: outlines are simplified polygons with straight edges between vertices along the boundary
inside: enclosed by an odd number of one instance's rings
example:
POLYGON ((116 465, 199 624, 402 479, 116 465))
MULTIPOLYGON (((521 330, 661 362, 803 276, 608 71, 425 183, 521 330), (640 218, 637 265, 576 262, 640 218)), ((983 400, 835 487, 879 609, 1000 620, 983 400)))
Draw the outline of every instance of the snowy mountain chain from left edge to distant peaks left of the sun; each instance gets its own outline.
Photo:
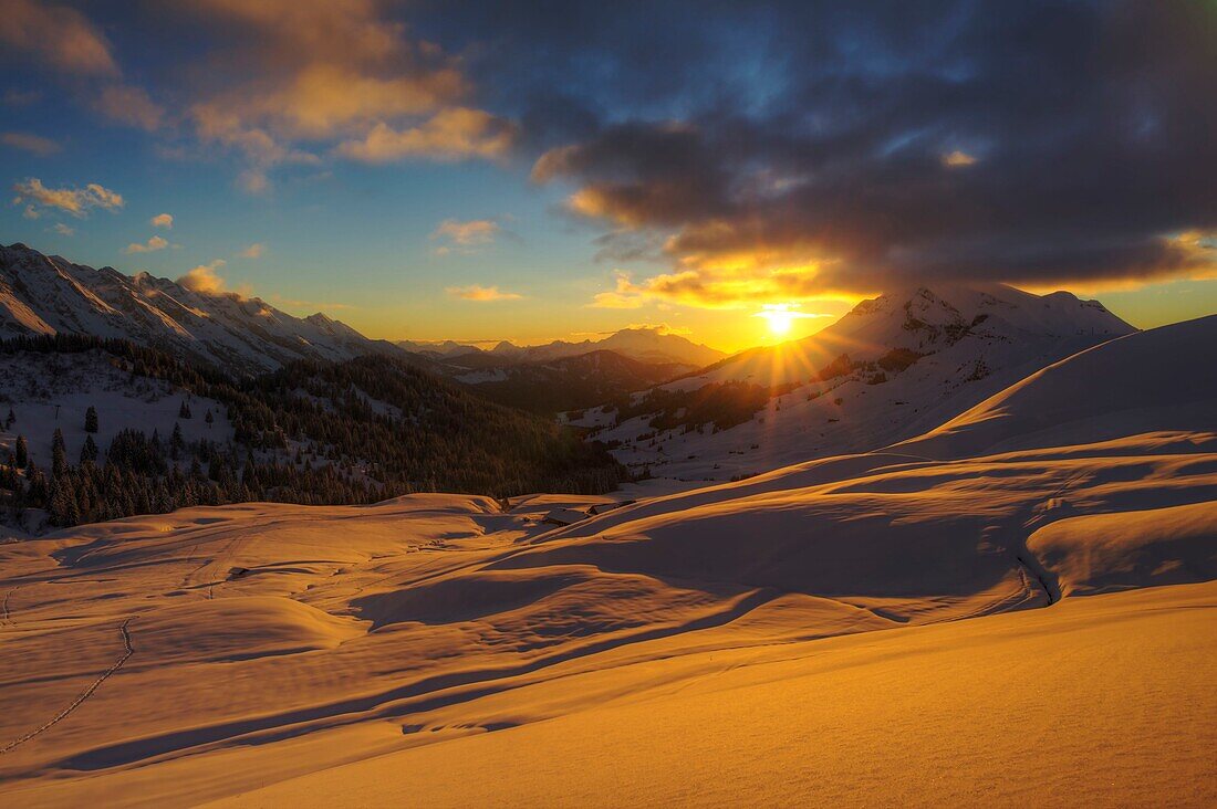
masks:
MULTIPOLYGON (((21 243, 0 246, 0 337, 30 333, 129 339, 184 359, 203 360, 237 376, 256 376, 302 359, 342 361, 366 354, 409 353, 437 361, 438 366, 427 367, 452 377, 471 369, 613 352, 635 364, 656 366, 635 369, 636 373, 622 380, 623 384, 636 382, 645 387, 725 356, 650 327, 626 328, 595 341, 526 347, 501 342, 488 352, 452 341, 394 344, 365 337, 320 311, 296 318, 262 298, 201 292, 148 273, 124 275, 111 266, 94 269, 21 243)), ((553 378, 556 370, 542 376, 553 378)))

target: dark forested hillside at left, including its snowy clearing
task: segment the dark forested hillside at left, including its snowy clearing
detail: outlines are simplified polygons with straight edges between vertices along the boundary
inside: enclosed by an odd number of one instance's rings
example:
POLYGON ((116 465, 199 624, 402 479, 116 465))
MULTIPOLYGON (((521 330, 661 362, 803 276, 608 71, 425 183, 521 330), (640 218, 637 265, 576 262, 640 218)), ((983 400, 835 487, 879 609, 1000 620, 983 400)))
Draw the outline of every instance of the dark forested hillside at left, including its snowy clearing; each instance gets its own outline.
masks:
POLYGON ((622 472, 577 431, 404 356, 232 382, 127 341, 0 342, 0 534, 10 515, 37 532, 43 512, 71 526, 201 504, 604 491, 622 472))

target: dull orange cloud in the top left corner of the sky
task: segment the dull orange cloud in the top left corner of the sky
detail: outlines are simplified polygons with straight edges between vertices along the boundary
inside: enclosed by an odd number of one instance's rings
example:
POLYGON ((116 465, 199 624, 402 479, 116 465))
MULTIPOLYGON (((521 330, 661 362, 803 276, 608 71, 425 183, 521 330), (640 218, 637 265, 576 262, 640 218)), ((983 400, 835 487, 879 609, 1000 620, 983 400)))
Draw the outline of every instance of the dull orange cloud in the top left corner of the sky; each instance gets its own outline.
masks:
POLYGON ((80 75, 117 75, 110 43, 84 15, 68 6, 4 0, 0 43, 41 62, 80 75))

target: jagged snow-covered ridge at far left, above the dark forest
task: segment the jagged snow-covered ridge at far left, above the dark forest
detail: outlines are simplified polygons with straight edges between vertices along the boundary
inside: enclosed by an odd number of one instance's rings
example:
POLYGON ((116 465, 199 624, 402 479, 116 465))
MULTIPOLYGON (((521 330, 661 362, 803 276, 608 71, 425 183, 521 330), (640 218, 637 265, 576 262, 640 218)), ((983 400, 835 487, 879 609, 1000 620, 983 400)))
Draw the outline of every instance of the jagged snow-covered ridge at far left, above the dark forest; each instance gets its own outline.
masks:
POLYGON ((24 245, 0 246, 0 336, 119 337, 239 375, 298 359, 398 353, 321 313, 295 318, 260 298, 195 292, 147 273, 94 269, 24 245))

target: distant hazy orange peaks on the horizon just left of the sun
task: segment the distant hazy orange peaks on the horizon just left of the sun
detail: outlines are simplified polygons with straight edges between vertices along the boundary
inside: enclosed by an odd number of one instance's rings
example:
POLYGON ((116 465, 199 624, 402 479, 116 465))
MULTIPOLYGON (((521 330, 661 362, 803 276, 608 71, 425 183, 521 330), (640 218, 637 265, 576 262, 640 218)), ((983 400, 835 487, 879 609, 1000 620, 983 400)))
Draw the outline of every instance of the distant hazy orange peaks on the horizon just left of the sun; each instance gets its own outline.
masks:
POLYGON ((464 363, 477 364, 478 367, 506 363, 548 363, 591 352, 615 352, 639 363, 684 365, 695 369, 705 367, 727 356, 718 349, 694 343, 680 335, 673 335, 661 327, 646 326, 622 328, 602 339, 579 342, 559 339, 544 345, 516 345, 503 341, 489 350, 453 341, 437 343, 402 341, 398 345, 408 352, 425 354, 433 359, 462 358, 464 363))

